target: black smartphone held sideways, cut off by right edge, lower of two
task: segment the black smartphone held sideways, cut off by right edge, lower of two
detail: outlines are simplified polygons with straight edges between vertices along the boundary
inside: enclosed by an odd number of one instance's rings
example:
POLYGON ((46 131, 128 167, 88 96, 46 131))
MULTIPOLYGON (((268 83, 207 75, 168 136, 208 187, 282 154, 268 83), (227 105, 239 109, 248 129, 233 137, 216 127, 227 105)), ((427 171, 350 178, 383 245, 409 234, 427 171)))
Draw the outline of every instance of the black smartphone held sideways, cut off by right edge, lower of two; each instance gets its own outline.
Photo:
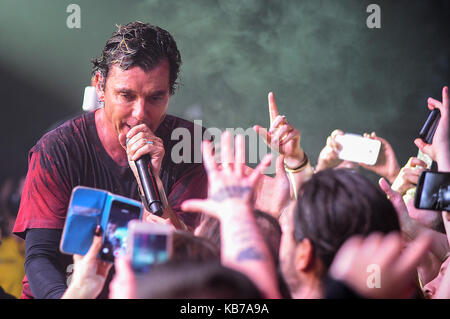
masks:
POLYGON ((424 171, 419 177, 414 206, 450 211, 450 173, 424 171))

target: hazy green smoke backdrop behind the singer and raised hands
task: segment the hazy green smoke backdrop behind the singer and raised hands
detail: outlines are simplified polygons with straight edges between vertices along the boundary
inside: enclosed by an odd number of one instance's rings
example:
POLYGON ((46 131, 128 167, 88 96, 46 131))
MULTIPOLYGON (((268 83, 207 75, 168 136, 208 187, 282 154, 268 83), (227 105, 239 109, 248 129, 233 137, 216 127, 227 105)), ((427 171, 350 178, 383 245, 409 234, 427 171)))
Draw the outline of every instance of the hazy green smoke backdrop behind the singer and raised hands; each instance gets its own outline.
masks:
POLYGON ((400 164, 449 84, 450 1, 0 1, 0 177, 25 174, 27 152, 79 114, 90 60, 115 24, 171 32, 182 54, 169 113, 206 127, 269 125, 267 93, 302 134, 313 164, 330 132, 376 131, 400 164), (66 8, 81 7, 69 29, 66 8), (369 29, 370 3, 381 29, 369 29))

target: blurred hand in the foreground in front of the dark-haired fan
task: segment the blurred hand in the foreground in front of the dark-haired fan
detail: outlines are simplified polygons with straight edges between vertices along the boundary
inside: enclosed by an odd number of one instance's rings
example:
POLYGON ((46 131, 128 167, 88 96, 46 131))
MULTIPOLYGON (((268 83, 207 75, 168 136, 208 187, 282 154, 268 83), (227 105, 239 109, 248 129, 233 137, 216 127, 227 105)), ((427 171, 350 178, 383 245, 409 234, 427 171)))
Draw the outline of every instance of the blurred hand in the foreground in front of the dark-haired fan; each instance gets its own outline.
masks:
POLYGON ((339 249, 330 275, 367 298, 407 298, 414 291, 415 270, 430 243, 430 235, 423 234, 402 251, 399 233, 354 236, 339 249))

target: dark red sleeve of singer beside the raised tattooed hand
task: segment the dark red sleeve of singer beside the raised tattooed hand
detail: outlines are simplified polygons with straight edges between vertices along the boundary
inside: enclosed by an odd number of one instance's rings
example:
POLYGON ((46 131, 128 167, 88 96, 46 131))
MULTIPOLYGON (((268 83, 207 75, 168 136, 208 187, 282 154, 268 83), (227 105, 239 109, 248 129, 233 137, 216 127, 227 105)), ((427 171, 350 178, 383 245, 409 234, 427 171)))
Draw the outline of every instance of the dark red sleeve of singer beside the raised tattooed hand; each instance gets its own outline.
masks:
POLYGON ((201 214, 184 213, 181 204, 191 198, 204 199, 208 195, 208 176, 202 164, 186 172, 172 187, 167 201, 174 212, 184 221, 191 231, 198 226, 201 214))

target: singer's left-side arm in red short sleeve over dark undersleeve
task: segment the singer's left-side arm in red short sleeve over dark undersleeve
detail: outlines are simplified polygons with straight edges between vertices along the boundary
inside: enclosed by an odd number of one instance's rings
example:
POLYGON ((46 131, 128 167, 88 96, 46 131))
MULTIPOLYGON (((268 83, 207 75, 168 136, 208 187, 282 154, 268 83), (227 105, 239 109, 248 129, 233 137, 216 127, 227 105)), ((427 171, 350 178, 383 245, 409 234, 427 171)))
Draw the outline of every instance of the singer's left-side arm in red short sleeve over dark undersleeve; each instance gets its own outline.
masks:
MULTIPOLYGON (((53 138, 53 135, 52 135, 53 138)), ((62 143, 44 137, 30 151, 28 173, 13 232, 25 239, 25 271, 36 298, 60 298, 66 289, 59 242, 69 202, 62 143)))

